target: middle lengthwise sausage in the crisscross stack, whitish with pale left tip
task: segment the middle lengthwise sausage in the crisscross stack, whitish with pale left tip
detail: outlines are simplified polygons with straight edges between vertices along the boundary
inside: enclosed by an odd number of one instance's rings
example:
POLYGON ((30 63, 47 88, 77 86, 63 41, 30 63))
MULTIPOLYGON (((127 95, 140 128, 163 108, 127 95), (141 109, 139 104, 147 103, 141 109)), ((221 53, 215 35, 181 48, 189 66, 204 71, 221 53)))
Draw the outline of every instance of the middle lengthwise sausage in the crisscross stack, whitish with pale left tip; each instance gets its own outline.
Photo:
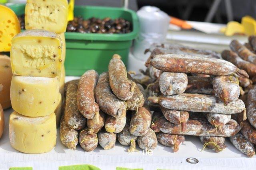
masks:
POLYGON ((237 99, 224 106, 216 100, 215 96, 205 94, 179 94, 174 96, 160 95, 148 97, 150 102, 158 103, 160 106, 172 110, 187 112, 210 112, 221 114, 236 114, 245 110, 244 102, 237 99))

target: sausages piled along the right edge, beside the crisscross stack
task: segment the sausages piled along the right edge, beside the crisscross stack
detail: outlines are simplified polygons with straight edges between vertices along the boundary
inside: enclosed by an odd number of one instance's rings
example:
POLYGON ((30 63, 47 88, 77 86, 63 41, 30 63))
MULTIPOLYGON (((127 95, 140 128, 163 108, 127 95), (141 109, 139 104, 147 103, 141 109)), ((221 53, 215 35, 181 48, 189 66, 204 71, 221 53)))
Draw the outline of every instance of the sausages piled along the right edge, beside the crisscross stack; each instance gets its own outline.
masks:
POLYGON ((247 120, 243 120, 242 115, 237 116, 241 131, 230 137, 230 141, 240 152, 252 157, 255 155, 256 144, 256 36, 250 36, 244 45, 233 40, 230 49, 222 52, 222 58, 245 70, 250 76, 238 78, 243 91, 239 98, 246 105, 247 120))

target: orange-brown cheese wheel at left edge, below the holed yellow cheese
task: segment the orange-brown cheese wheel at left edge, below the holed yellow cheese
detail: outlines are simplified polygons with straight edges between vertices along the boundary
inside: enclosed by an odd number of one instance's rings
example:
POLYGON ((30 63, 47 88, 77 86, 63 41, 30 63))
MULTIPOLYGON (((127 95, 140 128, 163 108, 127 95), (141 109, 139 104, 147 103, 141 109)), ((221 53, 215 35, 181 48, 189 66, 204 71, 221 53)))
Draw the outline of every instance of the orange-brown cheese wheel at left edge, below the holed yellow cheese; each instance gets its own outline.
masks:
POLYGON ((11 107, 10 86, 12 68, 10 57, 0 55, 0 104, 3 109, 11 107))

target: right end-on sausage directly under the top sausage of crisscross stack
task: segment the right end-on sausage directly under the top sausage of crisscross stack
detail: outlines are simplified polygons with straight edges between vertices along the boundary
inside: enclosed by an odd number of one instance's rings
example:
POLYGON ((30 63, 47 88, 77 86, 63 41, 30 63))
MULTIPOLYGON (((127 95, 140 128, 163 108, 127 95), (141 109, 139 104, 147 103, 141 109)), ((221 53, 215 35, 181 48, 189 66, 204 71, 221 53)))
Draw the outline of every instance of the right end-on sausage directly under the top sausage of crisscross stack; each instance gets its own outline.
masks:
POLYGON ((239 81, 235 76, 211 76, 215 96, 228 105, 240 95, 239 81))

